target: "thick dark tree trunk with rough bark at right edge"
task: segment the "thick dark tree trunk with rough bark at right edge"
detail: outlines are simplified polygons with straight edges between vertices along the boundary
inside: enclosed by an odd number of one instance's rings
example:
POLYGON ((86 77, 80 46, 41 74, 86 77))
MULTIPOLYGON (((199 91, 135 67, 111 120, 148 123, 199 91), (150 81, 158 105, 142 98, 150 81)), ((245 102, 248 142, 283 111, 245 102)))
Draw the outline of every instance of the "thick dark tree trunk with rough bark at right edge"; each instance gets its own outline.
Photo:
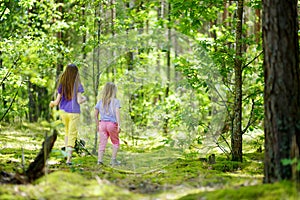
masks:
POLYGON ((296 175, 282 160, 299 157, 298 26, 297 0, 263 1, 265 183, 296 175))

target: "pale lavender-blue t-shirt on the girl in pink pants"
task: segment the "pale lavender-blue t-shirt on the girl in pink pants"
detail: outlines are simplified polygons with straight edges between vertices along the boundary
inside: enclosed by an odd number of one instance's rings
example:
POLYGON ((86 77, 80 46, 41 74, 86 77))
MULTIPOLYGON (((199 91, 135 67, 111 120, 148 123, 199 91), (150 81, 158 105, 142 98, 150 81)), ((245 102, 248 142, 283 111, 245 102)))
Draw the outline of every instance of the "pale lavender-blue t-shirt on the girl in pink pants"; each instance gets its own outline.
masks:
POLYGON ((120 101, 118 99, 113 99, 108 107, 108 111, 105 111, 102 107, 102 100, 98 101, 95 106, 95 109, 99 110, 100 112, 100 120, 101 121, 110 121, 110 122, 117 122, 116 118, 116 109, 121 108, 120 101))

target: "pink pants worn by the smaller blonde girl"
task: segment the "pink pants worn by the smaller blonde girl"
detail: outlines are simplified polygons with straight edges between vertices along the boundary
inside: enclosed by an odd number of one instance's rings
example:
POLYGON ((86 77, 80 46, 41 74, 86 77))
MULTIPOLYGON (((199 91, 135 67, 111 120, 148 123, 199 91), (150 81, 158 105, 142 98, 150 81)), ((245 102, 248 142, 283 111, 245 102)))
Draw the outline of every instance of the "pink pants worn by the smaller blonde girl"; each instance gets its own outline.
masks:
POLYGON ((119 148, 120 140, 119 140, 119 132, 118 132, 118 124, 114 122, 99 122, 99 151, 105 151, 105 147, 110 137, 111 143, 114 148, 119 148))

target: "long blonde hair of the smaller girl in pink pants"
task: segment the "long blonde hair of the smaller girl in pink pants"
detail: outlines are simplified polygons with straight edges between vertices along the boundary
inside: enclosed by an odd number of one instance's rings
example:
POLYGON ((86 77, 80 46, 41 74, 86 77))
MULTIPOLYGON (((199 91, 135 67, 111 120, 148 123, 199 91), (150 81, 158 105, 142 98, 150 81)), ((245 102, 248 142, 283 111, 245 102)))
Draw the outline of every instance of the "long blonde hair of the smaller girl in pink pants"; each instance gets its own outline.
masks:
POLYGON ((117 97, 117 86, 112 82, 107 82, 102 91, 102 107, 108 112, 110 103, 117 97))

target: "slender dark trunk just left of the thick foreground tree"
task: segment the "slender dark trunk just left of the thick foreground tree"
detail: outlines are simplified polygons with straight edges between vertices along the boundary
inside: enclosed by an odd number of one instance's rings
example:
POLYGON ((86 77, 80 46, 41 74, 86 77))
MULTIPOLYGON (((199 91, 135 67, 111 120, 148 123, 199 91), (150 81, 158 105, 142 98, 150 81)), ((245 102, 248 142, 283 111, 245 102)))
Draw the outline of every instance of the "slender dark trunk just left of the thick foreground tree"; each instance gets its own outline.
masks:
POLYGON ((231 136, 232 160, 243 161, 242 141, 242 25, 243 25, 243 0, 238 1, 237 27, 236 27, 236 57, 235 57, 235 99, 234 121, 231 136))

